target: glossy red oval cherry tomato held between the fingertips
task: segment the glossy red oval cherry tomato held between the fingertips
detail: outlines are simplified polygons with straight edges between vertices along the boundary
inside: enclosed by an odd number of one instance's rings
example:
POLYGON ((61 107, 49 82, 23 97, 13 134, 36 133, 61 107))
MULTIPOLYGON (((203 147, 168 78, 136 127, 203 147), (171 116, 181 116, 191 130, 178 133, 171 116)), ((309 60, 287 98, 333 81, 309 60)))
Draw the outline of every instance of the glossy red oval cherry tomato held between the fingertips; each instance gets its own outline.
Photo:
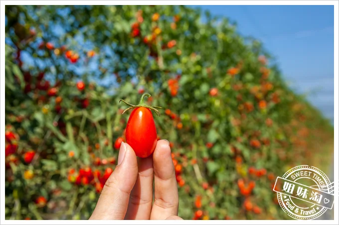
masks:
POLYGON ((150 109, 135 108, 127 122, 126 141, 141 158, 149 157, 157 145, 157 128, 150 109))

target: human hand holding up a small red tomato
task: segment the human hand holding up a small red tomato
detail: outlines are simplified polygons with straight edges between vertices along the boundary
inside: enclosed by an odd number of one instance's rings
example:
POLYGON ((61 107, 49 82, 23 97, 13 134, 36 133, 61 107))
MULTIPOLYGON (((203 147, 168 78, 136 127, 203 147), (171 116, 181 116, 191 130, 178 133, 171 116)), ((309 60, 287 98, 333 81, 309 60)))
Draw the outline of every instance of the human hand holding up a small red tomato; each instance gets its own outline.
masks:
POLYGON ((90 220, 182 220, 169 142, 148 158, 121 143, 118 166, 107 180, 90 220), (153 202, 153 179, 155 183, 153 202))

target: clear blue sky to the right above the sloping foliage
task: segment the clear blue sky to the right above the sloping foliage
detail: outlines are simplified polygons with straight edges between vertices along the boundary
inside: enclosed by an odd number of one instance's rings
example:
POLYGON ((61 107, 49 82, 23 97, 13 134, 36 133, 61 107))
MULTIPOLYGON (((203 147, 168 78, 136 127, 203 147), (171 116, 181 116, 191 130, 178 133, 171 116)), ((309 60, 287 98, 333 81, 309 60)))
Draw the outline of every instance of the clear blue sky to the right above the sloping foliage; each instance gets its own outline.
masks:
POLYGON ((284 77, 334 118, 333 5, 191 5, 235 21, 276 57, 284 77))

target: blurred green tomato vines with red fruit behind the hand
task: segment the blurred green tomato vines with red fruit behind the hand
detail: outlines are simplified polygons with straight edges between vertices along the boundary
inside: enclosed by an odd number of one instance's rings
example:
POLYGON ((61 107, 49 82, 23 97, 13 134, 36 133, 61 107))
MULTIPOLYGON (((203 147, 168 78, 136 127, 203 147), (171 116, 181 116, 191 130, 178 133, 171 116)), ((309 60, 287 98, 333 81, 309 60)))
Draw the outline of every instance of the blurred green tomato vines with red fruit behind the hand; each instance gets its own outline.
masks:
POLYGON ((7 5, 5 16, 6 219, 88 219, 125 140, 118 102, 144 92, 164 108, 154 117, 183 219, 289 219, 276 177, 329 169, 329 121, 227 18, 165 5, 7 5))

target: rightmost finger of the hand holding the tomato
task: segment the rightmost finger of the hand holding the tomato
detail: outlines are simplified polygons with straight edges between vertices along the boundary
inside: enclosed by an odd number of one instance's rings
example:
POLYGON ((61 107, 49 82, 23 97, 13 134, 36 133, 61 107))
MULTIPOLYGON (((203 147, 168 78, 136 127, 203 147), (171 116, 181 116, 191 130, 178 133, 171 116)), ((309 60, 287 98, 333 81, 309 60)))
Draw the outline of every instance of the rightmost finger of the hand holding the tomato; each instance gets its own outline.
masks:
POLYGON ((177 216, 178 190, 169 142, 160 140, 153 153, 155 199, 151 220, 165 220, 177 216))

